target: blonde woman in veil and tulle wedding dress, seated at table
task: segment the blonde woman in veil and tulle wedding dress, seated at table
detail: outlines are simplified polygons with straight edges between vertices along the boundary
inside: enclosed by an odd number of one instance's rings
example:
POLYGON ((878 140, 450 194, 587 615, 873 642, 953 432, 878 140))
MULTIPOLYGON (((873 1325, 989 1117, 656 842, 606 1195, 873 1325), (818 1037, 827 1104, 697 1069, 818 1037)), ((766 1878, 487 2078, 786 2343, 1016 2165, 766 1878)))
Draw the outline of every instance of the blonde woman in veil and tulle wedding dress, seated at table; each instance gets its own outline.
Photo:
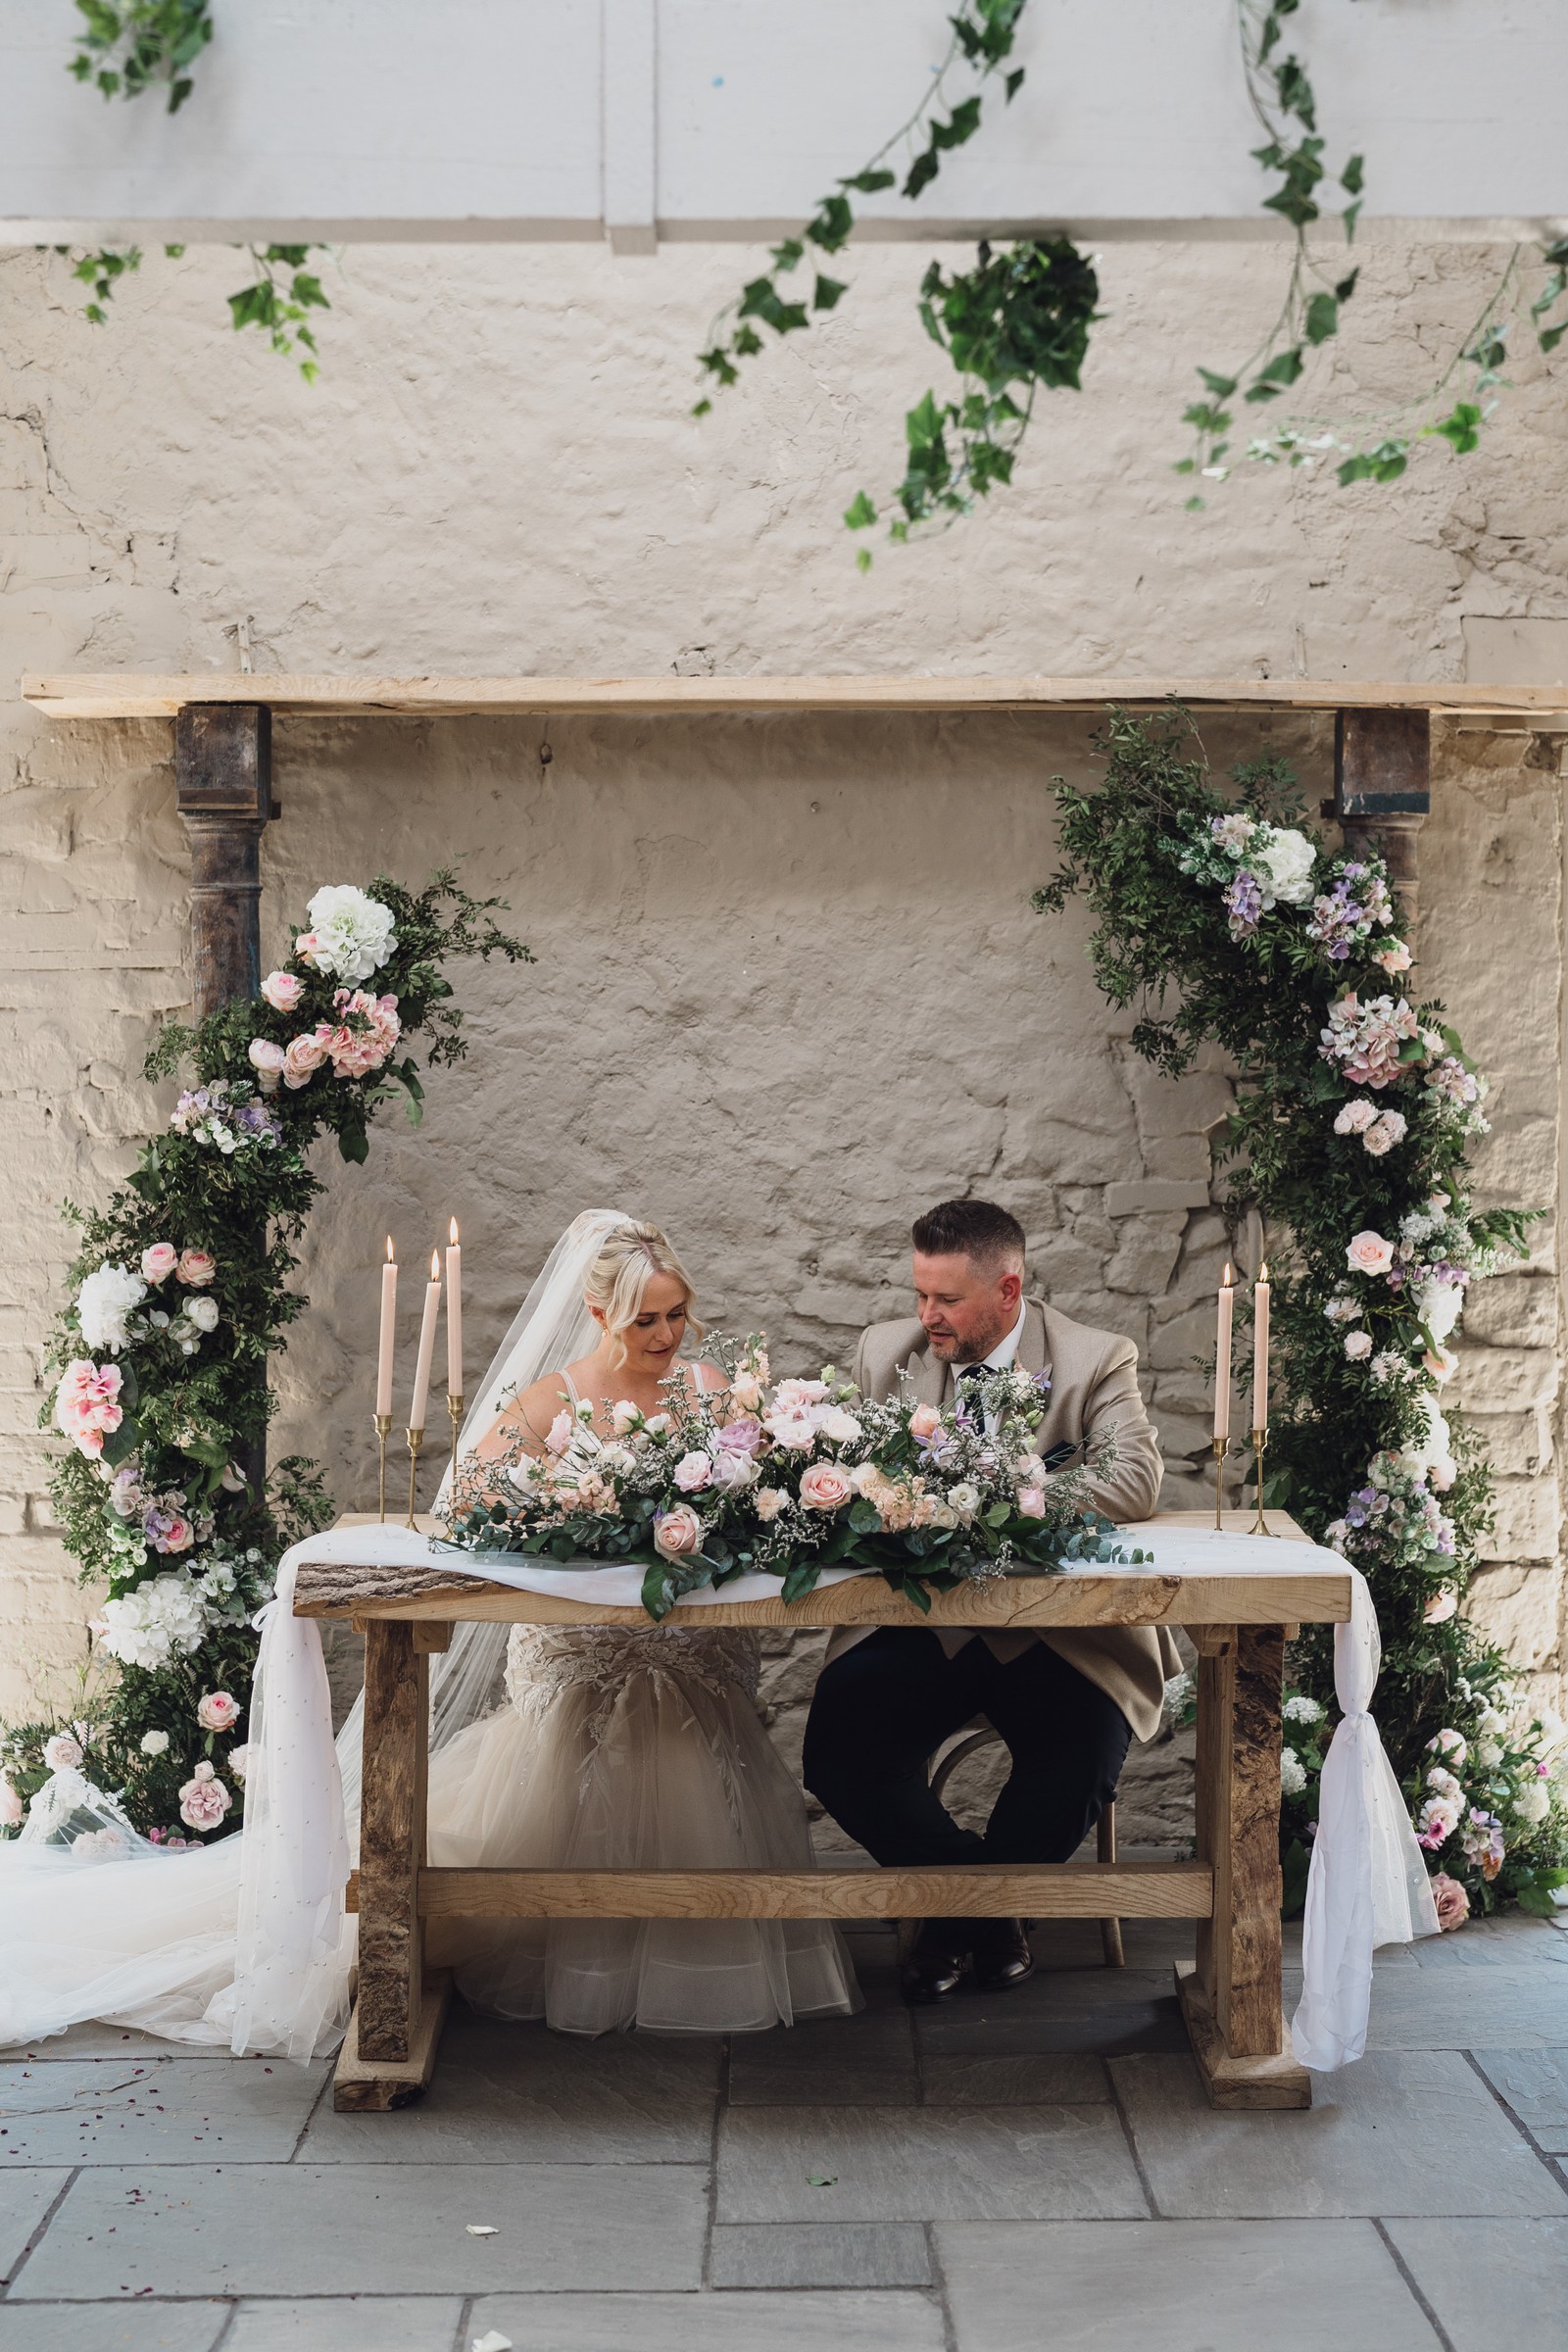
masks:
MULTIPOLYGON (((463 1430, 470 1479, 503 1491, 505 1463, 559 1449, 574 1423, 609 1439, 621 1402, 654 1416, 675 1383, 722 1388, 719 1371, 682 1359, 701 1336, 658 1225, 581 1216, 463 1430), (552 1369, 529 1378, 538 1362, 552 1369)), ((505 1642, 505 1705, 433 1755, 437 1867, 811 1867, 799 1790, 755 1708, 755 1635, 468 1625, 458 1639, 468 1677, 505 1642)), ((468 1922, 461 1936, 433 1957, 456 1959, 477 2009, 567 2032, 743 2032, 860 2006, 825 1922, 517 1919, 468 1922)))

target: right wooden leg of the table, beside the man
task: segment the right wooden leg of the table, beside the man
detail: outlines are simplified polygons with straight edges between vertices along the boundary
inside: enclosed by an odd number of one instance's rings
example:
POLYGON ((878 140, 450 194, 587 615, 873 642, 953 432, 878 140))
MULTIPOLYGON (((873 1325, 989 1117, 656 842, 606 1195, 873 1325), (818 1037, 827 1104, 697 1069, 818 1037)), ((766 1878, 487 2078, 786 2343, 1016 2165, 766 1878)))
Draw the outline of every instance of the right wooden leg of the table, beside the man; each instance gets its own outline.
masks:
POLYGON ((1284 2056, 1279 1929, 1281 1625, 1211 1625, 1199 1639, 1197 1844, 1213 1917, 1175 1985, 1215 2107, 1309 2107, 1312 2077, 1284 2056))

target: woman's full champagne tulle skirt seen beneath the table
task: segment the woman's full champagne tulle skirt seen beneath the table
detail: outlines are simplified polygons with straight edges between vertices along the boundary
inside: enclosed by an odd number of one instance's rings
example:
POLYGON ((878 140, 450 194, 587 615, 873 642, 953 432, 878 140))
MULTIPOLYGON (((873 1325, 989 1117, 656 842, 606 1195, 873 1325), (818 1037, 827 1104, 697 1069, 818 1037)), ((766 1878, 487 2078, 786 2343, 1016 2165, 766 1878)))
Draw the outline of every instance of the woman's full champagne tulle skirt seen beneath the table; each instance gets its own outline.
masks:
MULTIPOLYGON (((809 1870, 811 1832, 755 1708, 757 1639, 515 1625, 508 1703, 430 1759, 440 1867, 809 1870)), ((816 1919, 456 1922, 475 2009, 564 2032, 748 2032, 860 2006, 816 1919)))

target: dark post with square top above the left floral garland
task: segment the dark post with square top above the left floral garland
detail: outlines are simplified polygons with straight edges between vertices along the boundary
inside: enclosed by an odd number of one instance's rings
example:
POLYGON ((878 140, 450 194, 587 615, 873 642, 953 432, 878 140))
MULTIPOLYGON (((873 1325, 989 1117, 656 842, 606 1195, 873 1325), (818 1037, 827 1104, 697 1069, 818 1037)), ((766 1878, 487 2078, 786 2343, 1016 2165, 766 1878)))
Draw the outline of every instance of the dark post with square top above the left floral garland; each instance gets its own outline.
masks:
POLYGON ((186 703, 174 722, 179 814, 190 835, 197 1021, 261 983, 261 830, 273 816, 273 713, 186 703))

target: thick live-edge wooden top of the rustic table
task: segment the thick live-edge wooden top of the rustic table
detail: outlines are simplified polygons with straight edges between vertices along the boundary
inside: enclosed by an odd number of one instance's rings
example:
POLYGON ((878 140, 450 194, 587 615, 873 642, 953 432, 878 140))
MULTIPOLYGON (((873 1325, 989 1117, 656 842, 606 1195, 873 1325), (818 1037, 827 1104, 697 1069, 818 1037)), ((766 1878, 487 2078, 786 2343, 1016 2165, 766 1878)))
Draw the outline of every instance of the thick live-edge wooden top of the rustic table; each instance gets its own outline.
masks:
MULTIPOLYGON (((350 1512, 339 1526, 374 1526, 350 1512)), ((435 1534, 433 1519, 418 1522, 435 1534)), ((1159 1555, 1159 1531, 1213 1526, 1211 1512, 1161 1512, 1131 1531, 1159 1555)), ((1227 1534, 1251 1529, 1248 1512, 1225 1512, 1227 1534)), ((1284 1512, 1269 1512, 1269 1531, 1286 1538, 1279 1566, 1225 1571, 1218 1562, 1201 1571, 1159 1566, 1065 1569, 1060 1576, 1016 1576, 990 1585, 964 1585, 933 1595, 924 1616, 882 1576, 853 1576, 823 1585, 806 1599, 679 1604, 665 1623, 719 1625, 1312 1625, 1349 1618, 1349 1569, 1331 1569, 1321 1555, 1291 1566, 1291 1548, 1309 1536, 1284 1512)), ((482 1576, 447 1569, 355 1566, 350 1562, 301 1564, 294 1613, 313 1618, 381 1618, 393 1623, 463 1623, 475 1618, 512 1625, 646 1625, 642 1609, 609 1609, 588 1597, 592 1573, 583 1573, 583 1599, 555 1592, 515 1592, 482 1576)))

